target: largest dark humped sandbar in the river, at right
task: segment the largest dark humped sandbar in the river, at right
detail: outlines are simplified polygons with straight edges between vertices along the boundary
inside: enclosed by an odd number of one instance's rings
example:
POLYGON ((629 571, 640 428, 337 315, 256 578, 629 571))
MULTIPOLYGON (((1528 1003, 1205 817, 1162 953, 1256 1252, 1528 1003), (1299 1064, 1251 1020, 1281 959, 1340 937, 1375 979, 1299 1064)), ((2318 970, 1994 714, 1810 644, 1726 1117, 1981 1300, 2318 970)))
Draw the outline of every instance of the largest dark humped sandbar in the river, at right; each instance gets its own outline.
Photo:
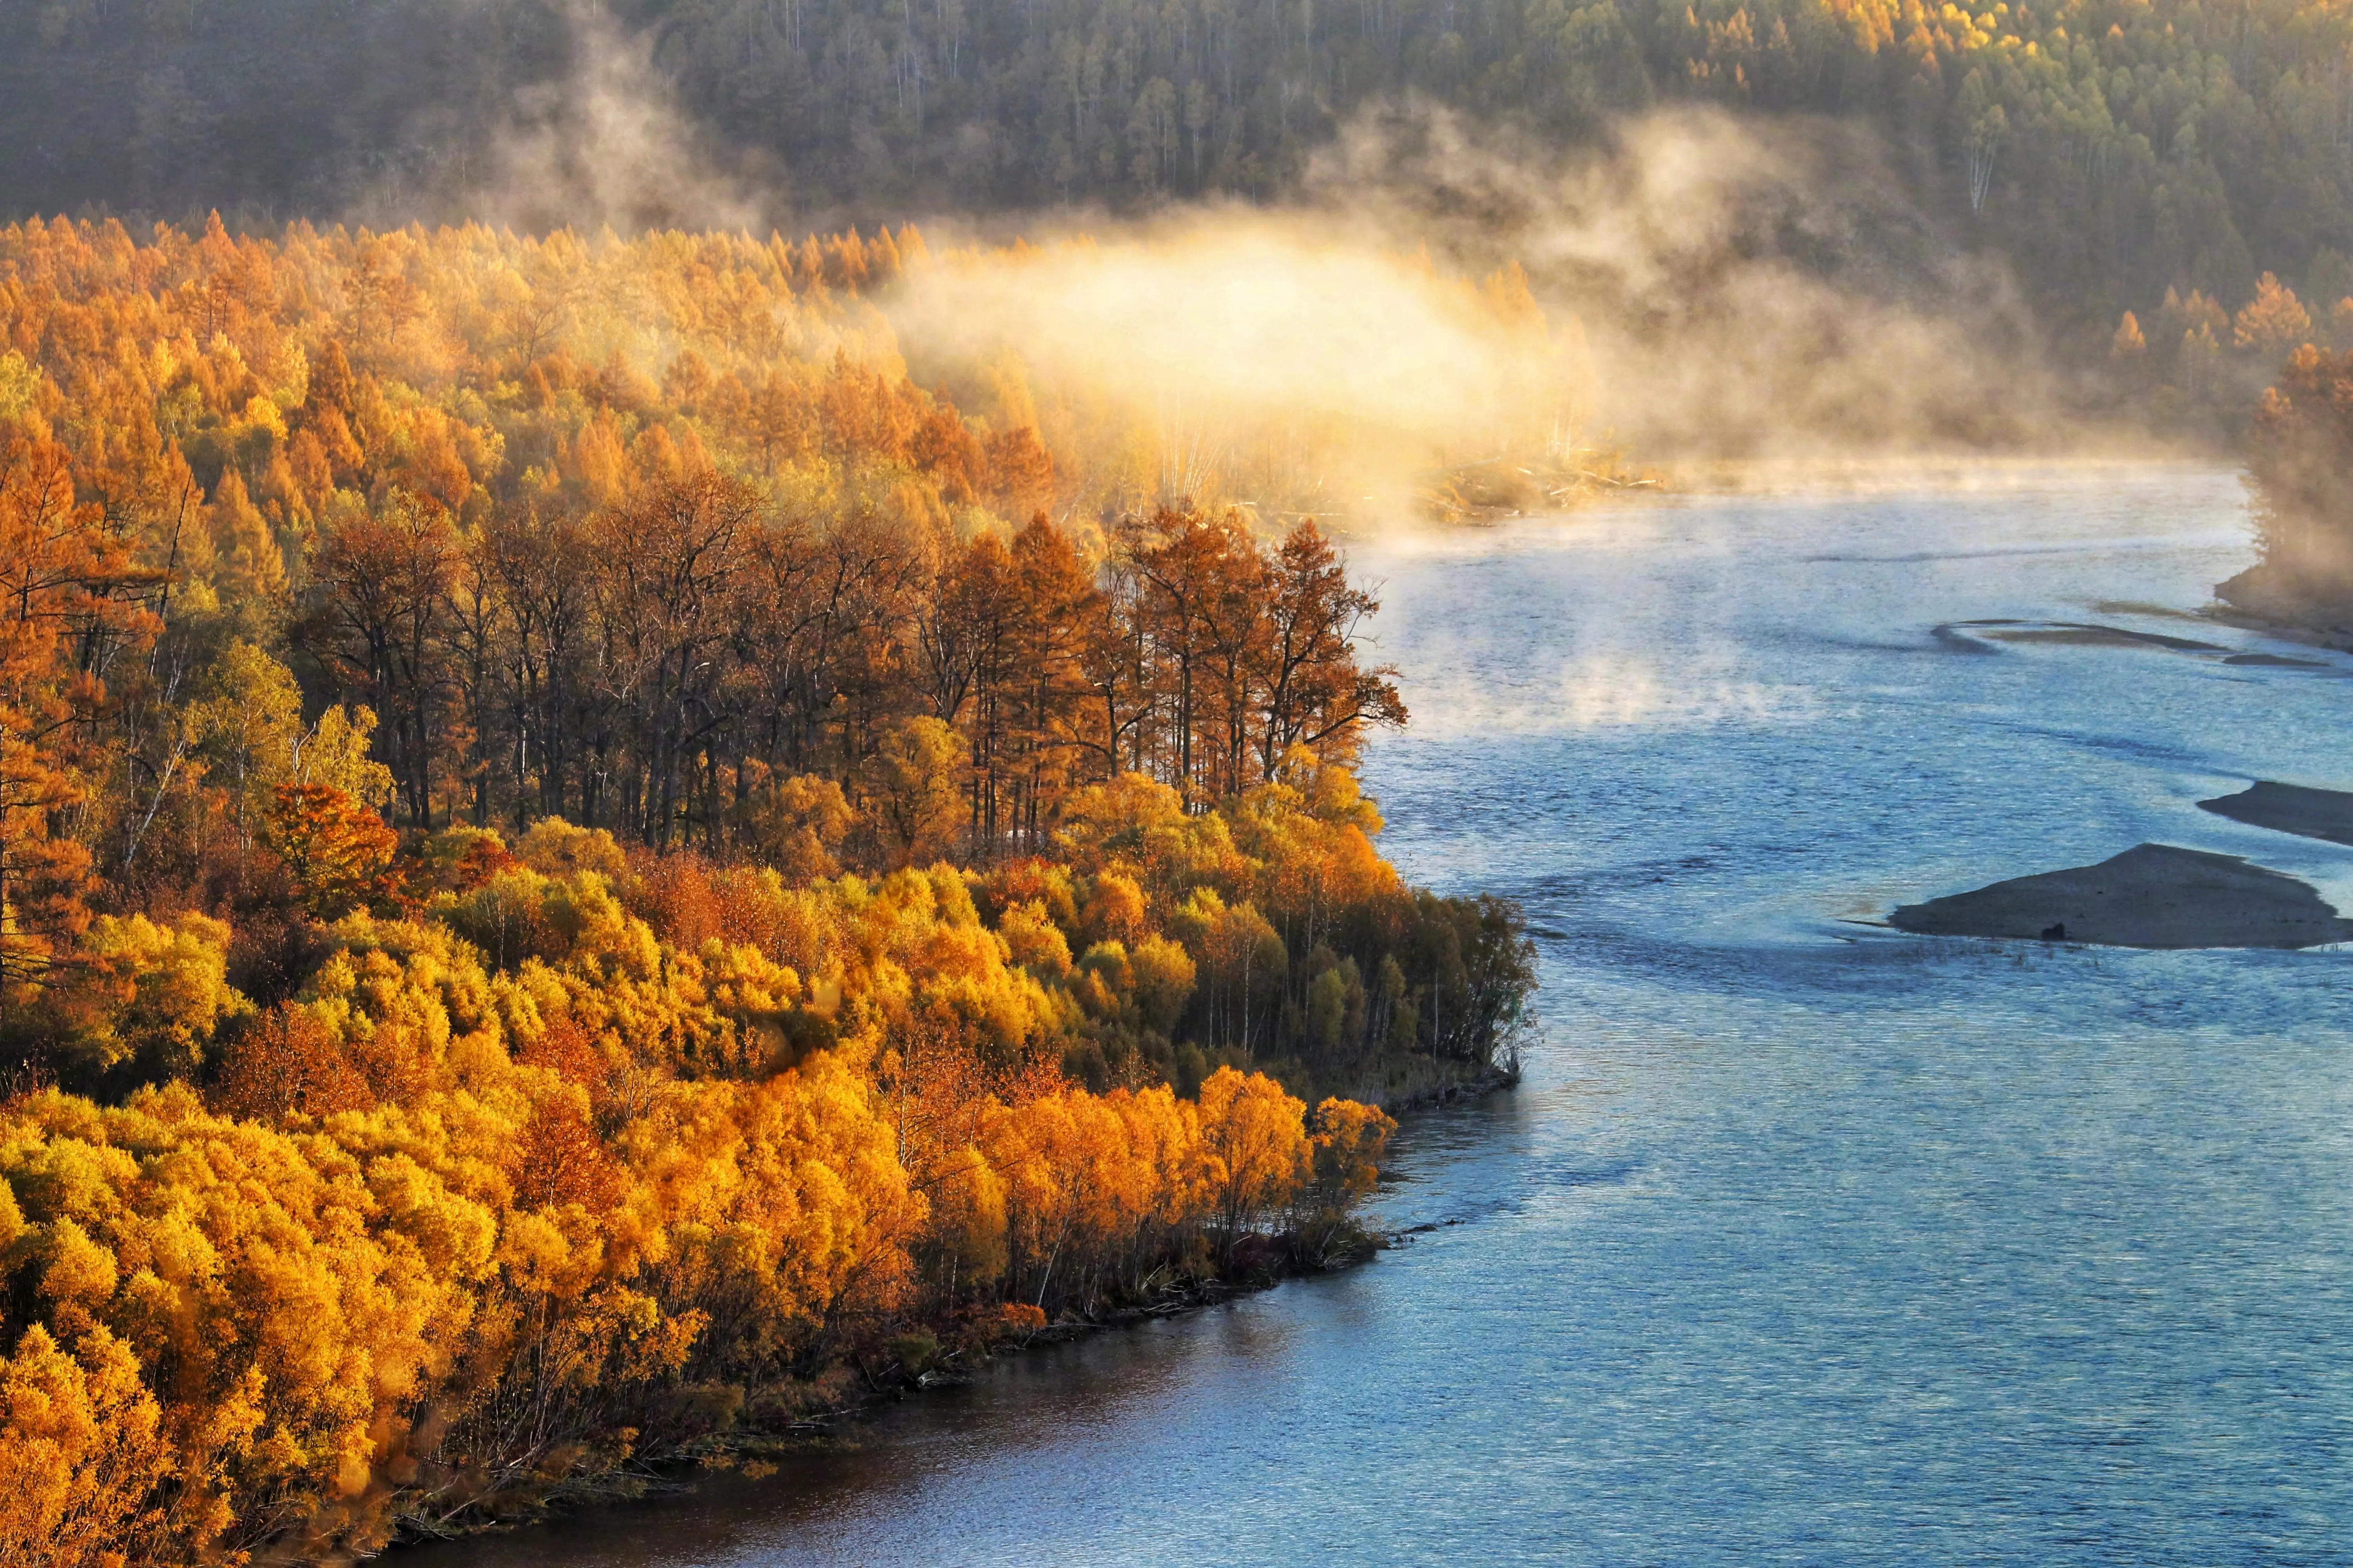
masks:
POLYGON ((2108 947, 2318 947, 2353 938, 2353 922, 2339 919, 2308 884, 2174 844, 2134 844, 2099 865, 1908 903, 1887 922, 1922 936, 2108 947))

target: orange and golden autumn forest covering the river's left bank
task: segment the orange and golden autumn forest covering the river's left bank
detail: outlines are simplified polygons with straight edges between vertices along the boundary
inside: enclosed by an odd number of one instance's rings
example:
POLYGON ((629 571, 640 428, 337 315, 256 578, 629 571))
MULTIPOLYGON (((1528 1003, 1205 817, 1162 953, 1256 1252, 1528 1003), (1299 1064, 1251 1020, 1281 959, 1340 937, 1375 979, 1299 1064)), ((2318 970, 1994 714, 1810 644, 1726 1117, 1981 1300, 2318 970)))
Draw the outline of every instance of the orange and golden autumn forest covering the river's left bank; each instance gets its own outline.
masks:
POLYGON ((1377 595, 913 383, 922 247, 0 230, 0 1561, 372 1552, 1315 1267, 1511 1072, 1518 910, 1355 785, 1377 595))

